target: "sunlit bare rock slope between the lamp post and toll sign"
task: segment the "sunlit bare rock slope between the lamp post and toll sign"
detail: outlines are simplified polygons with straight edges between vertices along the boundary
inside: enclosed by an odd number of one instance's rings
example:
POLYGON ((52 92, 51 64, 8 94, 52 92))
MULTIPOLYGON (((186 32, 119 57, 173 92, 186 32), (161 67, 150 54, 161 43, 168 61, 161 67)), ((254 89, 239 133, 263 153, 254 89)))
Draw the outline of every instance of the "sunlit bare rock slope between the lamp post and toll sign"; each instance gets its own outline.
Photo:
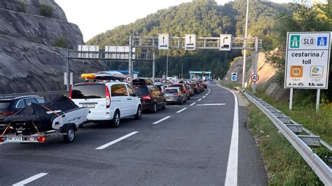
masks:
MULTIPOLYGON (((247 57, 246 61, 246 77, 245 82, 248 86, 252 87, 252 82, 250 80, 250 77, 254 71, 253 69, 253 62, 254 62, 254 55, 247 57)), ((242 83, 242 66, 243 66, 243 58, 237 57, 235 59, 235 62, 232 66, 230 66, 230 69, 228 70, 228 73, 223 78, 223 81, 226 83, 232 83, 230 80, 231 73, 237 73, 237 81, 235 83, 242 83)), ((277 83, 277 74, 273 66, 270 66, 270 64, 265 63, 265 55, 263 52, 258 53, 258 76, 259 80, 257 82, 257 89, 263 90, 265 94, 268 94, 272 97, 274 97, 276 100, 279 101, 286 101, 289 99, 289 90, 285 90, 283 86, 278 85, 277 83)))

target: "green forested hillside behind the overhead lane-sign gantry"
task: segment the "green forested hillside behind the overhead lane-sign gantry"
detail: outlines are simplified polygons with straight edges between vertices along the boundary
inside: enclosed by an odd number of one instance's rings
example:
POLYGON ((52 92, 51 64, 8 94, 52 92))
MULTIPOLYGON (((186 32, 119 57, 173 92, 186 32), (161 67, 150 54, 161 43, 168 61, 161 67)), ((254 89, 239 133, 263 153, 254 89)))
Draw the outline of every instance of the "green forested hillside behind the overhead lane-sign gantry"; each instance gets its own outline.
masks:
MULTIPOLYGON (((156 13, 148 15, 134 23, 121 25, 115 29, 99 34, 88 41, 89 45, 128 45, 130 34, 135 36, 156 36, 160 33, 169 33, 170 36, 184 36, 197 34, 198 36, 219 36, 219 34, 233 34, 244 36, 246 0, 237 0, 218 5, 214 0, 193 0, 182 3, 156 13)), ((275 29, 275 15, 279 12, 288 12, 287 4, 272 2, 251 1, 249 15, 249 35, 267 38, 275 29)), ((268 40, 267 40, 268 41, 268 40)), ((270 43, 264 44, 270 49, 270 43)), ((239 50, 232 52, 184 50, 170 51, 169 76, 181 73, 181 64, 184 64, 184 73, 188 78, 188 71, 212 71, 215 77, 222 77, 228 70, 228 64, 237 56, 239 50)), ((156 60, 156 76, 161 77, 165 72, 165 52, 159 52, 156 60)), ((109 63, 110 69, 127 69, 127 63, 109 63)), ((134 70, 140 71, 140 76, 151 76, 151 62, 137 62, 134 70)))

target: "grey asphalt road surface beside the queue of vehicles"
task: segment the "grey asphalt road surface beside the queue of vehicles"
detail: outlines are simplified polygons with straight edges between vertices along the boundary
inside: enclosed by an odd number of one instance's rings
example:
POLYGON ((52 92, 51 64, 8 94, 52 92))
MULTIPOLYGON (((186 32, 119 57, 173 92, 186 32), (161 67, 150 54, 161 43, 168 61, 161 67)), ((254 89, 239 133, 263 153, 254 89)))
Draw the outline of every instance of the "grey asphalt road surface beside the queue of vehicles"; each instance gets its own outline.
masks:
POLYGON ((116 129, 87 124, 78 129, 74 143, 57 136, 43 144, 0 145, 0 185, 225 185, 226 179, 227 185, 268 185, 261 155, 245 127, 247 108, 238 107, 234 137, 233 94, 217 85, 209 90, 141 120, 121 120, 116 129), (238 145, 230 147, 234 140, 238 145), (229 157, 230 149, 237 156, 229 157), (229 159, 237 164, 228 165, 229 159))

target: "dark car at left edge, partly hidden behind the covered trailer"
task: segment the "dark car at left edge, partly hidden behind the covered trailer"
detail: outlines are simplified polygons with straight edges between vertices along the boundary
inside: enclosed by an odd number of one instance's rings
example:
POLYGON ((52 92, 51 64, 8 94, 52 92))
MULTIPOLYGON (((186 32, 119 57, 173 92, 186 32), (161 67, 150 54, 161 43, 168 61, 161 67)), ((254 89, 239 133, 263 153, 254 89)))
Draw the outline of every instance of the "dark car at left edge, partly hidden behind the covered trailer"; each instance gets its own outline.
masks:
POLYGON ((18 110, 24 108, 29 103, 44 103, 44 99, 40 96, 18 96, 0 99, 0 128, 4 127, 4 118, 13 115, 18 110))

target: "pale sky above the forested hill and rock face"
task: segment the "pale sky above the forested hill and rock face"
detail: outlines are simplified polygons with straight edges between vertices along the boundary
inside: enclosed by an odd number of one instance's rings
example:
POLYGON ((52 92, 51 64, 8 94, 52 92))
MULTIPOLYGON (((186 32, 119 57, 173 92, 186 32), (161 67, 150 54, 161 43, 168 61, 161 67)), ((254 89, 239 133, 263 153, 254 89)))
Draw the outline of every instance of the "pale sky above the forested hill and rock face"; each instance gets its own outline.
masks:
MULTIPOLYGON (((84 41, 122 24, 134 22, 157 10, 191 0, 55 0, 83 33, 84 41)), ((273 0, 277 3, 292 0, 273 0)), ((216 0, 223 4, 228 0, 216 0)), ((249 3, 250 5, 250 3, 249 3)), ((245 5, 244 5, 245 6, 245 5)))

